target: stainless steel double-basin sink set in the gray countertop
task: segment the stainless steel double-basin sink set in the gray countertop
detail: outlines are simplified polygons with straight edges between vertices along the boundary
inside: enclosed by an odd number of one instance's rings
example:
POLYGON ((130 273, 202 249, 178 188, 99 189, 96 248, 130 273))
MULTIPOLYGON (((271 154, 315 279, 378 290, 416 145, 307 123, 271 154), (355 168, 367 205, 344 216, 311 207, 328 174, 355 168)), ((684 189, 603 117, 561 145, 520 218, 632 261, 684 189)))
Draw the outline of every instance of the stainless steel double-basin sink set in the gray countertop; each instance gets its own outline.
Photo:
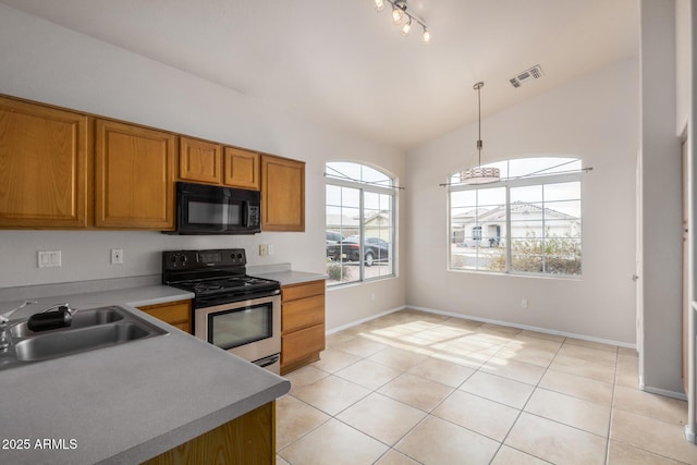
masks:
POLYGON ((78 310, 70 327, 34 332, 21 322, 10 330, 14 351, 0 355, 0 370, 154 338, 168 332, 122 307, 78 310))

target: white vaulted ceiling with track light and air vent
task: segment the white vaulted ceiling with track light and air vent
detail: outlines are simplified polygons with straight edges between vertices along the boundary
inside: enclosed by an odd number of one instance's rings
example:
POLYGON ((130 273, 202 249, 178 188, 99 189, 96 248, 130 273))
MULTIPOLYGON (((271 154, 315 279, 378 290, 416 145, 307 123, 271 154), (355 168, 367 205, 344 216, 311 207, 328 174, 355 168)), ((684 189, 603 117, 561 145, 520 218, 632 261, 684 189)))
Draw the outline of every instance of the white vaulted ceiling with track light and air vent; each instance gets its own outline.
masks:
POLYGON ((224 87, 408 149, 638 53, 635 0, 0 0, 224 87), (543 76, 509 79, 539 64, 543 76))

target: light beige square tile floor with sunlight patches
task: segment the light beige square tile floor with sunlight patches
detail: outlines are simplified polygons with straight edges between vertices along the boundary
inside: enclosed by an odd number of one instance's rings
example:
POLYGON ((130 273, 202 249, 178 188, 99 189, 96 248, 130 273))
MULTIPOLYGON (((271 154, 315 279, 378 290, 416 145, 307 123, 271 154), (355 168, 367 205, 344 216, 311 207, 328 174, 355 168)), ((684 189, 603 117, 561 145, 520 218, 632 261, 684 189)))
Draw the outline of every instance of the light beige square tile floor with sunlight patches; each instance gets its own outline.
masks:
POLYGON ((288 375, 277 464, 697 464, 633 350, 402 310, 288 375))

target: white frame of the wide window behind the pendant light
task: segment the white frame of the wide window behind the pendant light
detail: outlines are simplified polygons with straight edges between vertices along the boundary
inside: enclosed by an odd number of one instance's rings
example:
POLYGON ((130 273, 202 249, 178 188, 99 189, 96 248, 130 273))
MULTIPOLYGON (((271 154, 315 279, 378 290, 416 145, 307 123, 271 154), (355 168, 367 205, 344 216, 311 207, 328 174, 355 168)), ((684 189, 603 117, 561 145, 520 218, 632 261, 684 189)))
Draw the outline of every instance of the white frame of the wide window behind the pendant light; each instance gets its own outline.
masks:
MULTIPOLYGON (((558 173, 558 174, 543 174, 537 176, 522 176, 522 178, 512 178, 501 180, 494 183, 489 184, 448 184, 448 228, 447 234, 449 237, 448 241, 448 260, 447 260, 447 269, 448 271, 455 272, 474 272, 474 273, 491 273, 491 274, 501 274, 501 276, 523 276, 523 277, 538 277, 538 278, 550 278, 550 279, 571 279, 571 280, 579 280, 583 279, 583 229, 584 229, 584 215, 583 215, 583 180, 582 180, 582 171, 571 172, 571 173, 558 173), (580 249, 582 249, 582 260, 580 260, 580 269, 577 274, 554 274, 549 272, 530 272, 530 271, 517 271, 512 270, 512 253, 511 253, 511 188, 514 187, 525 187, 525 186, 545 186, 549 184, 563 184, 578 182, 580 186, 580 196, 578 201, 580 203, 580 249), (494 270, 484 270, 484 269, 470 269, 470 268, 453 268, 452 258, 453 258, 453 234, 454 231, 452 229, 452 193, 453 192, 464 192, 464 191, 484 191, 487 188, 497 188, 497 187, 505 187, 505 271, 494 271, 494 270)), ((452 178, 449 176, 449 179, 452 178)), ((543 207, 545 208, 545 207, 543 207)))

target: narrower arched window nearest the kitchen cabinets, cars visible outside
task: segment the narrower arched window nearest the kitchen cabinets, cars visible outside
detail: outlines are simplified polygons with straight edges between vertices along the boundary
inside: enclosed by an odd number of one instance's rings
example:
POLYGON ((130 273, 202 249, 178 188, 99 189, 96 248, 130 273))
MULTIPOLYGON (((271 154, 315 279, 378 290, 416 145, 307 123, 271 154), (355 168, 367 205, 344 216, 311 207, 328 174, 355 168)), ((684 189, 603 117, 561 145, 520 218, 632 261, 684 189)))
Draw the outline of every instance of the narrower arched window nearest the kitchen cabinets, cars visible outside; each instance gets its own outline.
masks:
POLYGON ((394 179, 366 164, 330 161, 328 285, 394 276, 394 179))

